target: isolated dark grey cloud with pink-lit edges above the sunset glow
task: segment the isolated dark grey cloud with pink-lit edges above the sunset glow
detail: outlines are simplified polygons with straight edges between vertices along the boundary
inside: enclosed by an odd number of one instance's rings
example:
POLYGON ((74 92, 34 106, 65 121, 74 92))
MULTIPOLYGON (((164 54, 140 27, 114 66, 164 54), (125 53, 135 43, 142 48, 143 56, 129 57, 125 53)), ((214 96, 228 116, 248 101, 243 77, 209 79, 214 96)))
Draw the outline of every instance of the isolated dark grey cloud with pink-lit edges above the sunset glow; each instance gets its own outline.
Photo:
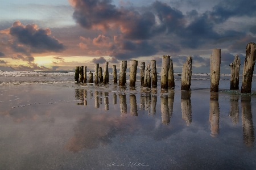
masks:
MULTIPOLYGON (((49 36, 51 31, 46 28, 37 28, 35 24, 22 25, 19 21, 14 22, 10 28, 10 35, 16 37, 18 43, 30 48, 31 53, 62 52, 65 47, 55 37, 49 36)), ((16 52, 26 51, 26 48, 13 46, 16 52)))

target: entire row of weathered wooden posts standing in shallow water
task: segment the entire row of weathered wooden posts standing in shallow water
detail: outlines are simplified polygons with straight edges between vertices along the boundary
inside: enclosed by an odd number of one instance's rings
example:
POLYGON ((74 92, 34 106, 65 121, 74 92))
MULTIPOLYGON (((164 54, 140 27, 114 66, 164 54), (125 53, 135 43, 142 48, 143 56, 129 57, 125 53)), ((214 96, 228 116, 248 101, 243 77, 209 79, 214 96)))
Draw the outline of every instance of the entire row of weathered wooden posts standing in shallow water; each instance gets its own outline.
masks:
MULTIPOLYGON (((251 92, 251 82, 253 77, 254 64, 256 59, 256 44, 250 42, 246 46, 246 57, 243 65, 243 78, 241 92, 247 94, 251 92)), ((218 92, 218 85, 220 81, 220 64, 221 64, 221 49, 213 49, 210 55, 210 92, 218 92)), ((102 68, 99 64, 94 64, 94 83, 109 83, 108 62, 105 62, 104 72, 102 75, 102 68), (100 79, 100 81, 99 81, 100 79)), ((239 71, 240 71, 240 58, 236 56, 231 67, 230 90, 239 89, 239 71)), ((136 74, 137 74, 138 61, 130 61, 130 87, 135 87, 136 74)), ((119 71, 119 86, 126 84, 126 69, 127 61, 121 61, 119 71)), ((157 86, 157 73, 156 61, 151 60, 151 64, 145 65, 145 62, 139 63, 139 70, 141 74, 141 86, 154 87, 157 86), (151 69, 151 67, 152 69, 151 69)), ((188 91, 191 86, 192 75, 192 57, 188 56, 187 61, 184 63, 181 73, 181 90, 188 91)), ((77 66, 75 70, 75 80, 79 83, 86 83, 86 66, 77 66)), ((117 67, 113 65, 113 80, 117 83, 117 67)), ((93 73, 89 71, 88 83, 93 83, 93 73)), ((170 56, 163 56, 162 70, 161 70, 161 88, 174 88, 174 67, 170 56)))

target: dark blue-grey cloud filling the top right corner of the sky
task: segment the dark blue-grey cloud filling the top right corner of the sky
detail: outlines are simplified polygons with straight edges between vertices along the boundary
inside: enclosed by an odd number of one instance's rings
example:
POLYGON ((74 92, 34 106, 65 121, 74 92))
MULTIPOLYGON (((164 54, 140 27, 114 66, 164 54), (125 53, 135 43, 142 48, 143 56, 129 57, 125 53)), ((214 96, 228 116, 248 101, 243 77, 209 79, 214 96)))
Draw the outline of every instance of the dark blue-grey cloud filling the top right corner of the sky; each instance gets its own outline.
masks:
POLYGON ((256 1, 248 0, 228 0, 221 1, 218 5, 213 7, 210 12, 212 19, 216 23, 225 22, 233 16, 256 16, 256 1))

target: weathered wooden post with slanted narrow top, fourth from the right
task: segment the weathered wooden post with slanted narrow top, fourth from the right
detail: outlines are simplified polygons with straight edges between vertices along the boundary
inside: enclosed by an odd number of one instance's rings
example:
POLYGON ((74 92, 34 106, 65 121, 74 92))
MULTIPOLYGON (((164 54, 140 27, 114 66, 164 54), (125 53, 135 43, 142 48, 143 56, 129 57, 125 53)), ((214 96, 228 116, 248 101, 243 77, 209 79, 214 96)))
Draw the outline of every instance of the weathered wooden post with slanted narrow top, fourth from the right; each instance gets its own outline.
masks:
POLYGON ((187 57, 187 62, 184 63, 182 67, 181 74, 181 90, 190 90, 191 85, 191 75, 192 75, 192 57, 187 57))

